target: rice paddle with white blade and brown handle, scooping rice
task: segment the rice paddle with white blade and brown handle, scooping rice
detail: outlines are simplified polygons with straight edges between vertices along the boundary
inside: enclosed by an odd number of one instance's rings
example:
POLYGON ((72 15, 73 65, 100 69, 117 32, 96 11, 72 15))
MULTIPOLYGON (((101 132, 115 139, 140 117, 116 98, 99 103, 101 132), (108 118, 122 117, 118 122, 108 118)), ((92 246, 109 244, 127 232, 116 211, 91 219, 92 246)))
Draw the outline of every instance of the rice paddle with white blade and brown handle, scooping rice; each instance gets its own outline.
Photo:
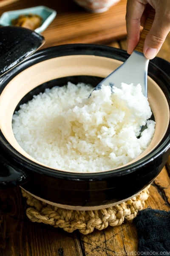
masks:
POLYGON ((125 84, 141 84, 142 93, 147 97, 147 68, 149 60, 144 57, 144 39, 149 32, 155 17, 155 10, 151 9, 140 35, 139 43, 130 57, 109 76, 102 80, 94 90, 100 90, 102 84, 120 88, 121 82, 125 84))

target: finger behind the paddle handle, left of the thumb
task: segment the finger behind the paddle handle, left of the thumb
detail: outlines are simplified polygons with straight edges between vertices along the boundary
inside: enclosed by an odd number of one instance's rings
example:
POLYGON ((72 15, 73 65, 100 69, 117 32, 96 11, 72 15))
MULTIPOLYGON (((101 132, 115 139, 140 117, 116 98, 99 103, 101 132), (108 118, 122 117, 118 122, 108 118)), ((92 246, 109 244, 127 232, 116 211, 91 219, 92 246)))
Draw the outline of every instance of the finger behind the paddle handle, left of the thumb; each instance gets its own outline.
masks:
POLYGON ((139 41, 141 17, 145 5, 137 0, 127 0, 126 29, 127 52, 131 54, 139 41))

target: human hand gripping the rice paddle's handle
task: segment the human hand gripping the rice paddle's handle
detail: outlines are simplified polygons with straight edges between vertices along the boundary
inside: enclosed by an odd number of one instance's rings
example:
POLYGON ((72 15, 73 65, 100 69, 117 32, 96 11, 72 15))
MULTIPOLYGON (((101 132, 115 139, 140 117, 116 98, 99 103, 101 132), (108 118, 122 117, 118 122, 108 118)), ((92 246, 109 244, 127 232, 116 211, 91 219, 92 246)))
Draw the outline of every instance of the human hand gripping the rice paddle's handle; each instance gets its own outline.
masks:
POLYGON ((143 47, 144 56, 148 59, 156 56, 170 32, 170 0, 127 0, 126 28, 129 54, 139 42, 140 26, 144 26, 151 6, 156 14, 143 47))

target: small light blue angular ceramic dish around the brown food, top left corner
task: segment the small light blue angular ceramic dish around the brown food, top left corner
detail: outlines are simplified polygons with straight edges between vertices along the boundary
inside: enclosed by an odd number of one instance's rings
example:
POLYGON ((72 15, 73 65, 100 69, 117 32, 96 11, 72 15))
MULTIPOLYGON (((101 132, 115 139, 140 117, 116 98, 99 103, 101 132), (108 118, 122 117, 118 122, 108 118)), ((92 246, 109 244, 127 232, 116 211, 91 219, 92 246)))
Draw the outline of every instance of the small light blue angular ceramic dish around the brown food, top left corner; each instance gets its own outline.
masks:
POLYGON ((41 33, 44 31, 52 20, 56 17, 57 12, 45 6, 36 6, 27 9, 4 12, 0 17, 0 25, 10 26, 11 20, 16 19, 21 14, 37 14, 42 17, 42 25, 35 29, 35 32, 41 33))

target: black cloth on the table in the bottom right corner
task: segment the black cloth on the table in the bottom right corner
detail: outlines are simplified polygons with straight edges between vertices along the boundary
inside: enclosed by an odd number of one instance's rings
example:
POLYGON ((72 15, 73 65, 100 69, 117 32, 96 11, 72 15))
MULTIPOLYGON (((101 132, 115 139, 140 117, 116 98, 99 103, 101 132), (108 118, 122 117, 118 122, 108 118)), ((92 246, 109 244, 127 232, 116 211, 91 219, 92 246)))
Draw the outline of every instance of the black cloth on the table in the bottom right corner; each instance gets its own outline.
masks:
POLYGON ((147 208, 139 211, 133 221, 141 255, 170 256, 170 211, 147 208))

